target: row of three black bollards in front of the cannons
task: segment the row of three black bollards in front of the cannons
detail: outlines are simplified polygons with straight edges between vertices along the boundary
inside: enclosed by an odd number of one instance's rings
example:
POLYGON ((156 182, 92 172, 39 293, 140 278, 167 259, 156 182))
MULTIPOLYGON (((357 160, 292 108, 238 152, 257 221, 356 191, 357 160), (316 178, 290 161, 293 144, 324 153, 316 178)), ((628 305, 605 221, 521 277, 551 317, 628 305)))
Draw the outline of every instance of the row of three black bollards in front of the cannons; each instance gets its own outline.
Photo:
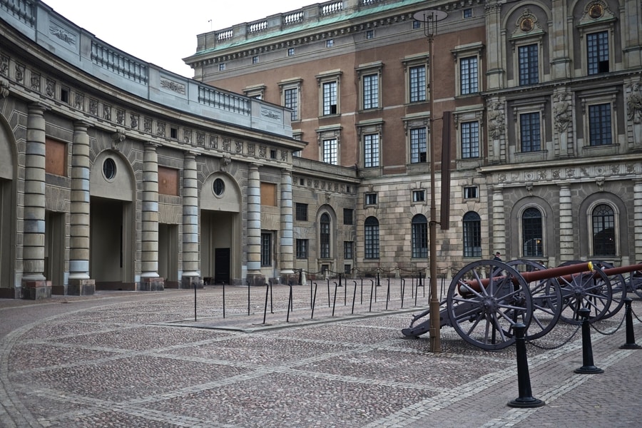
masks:
MULTIPOLYGON (((631 315, 631 297, 624 299, 625 304, 625 321, 626 321, 626 343, 622 345, 621 349, 638 350, 642 348, 636 344, 635 337, 633 336, 633 316, 631 315)), ((593 347, 591 345, 591 325, 588 322, 588 317, 591 315, 591 310, 586 307, 578 311, 582 320, 582 366, 574 370, 579 374, 598 374, 603 373, 599 367, 593 363, 593 347)), ((529 376, 529 362, 526 358, 526 325, 518 323, 514 325, 515 330, 515 346, 517 354, 517 389, 519 390, 519 397, 508 402, 510 407, 541 407, 544 406, 544 401, 533 397, 531 391, 531 379, 529 376)))

